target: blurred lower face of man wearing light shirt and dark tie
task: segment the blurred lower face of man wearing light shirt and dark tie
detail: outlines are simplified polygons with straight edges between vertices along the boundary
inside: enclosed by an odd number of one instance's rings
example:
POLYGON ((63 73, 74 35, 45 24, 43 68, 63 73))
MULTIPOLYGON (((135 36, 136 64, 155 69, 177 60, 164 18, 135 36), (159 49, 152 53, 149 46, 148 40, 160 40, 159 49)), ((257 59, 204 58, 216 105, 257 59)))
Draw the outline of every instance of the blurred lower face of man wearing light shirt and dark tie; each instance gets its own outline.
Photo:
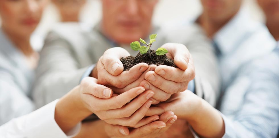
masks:
POLYGON ((227 20, 239 10, 242 0, 201 0, 204 14, 213 20, 227 20))

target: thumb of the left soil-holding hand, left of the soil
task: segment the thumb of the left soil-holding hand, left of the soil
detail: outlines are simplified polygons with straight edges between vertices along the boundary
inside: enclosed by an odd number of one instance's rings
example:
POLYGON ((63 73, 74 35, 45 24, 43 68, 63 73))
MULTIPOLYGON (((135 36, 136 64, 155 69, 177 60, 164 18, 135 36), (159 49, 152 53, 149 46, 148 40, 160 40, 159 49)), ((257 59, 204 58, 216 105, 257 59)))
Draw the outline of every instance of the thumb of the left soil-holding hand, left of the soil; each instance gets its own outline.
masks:
POLYGON ((120 61, 121 57, 130 56, 129 52, 121 47, 113 47, 105 51, 104 55, 100 58, 106 70, 117 76, 123 72, 123 64, 120 61))

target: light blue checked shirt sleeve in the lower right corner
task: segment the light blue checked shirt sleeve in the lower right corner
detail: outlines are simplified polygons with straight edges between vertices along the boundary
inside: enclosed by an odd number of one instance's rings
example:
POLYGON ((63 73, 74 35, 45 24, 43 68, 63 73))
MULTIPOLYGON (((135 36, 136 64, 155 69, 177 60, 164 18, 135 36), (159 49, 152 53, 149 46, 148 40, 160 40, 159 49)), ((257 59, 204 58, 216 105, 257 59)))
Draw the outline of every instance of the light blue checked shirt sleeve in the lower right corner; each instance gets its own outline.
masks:
MULTIPOLYGON (((224 137, 276 137, 279 129, 279 47, 270 55, 243 67, 236 77, 247 90, 224 101, 224 137), (229 108, 229 109, 226 109, 229 108)), ((226 100, 228 98, 225 98, 226 100)))

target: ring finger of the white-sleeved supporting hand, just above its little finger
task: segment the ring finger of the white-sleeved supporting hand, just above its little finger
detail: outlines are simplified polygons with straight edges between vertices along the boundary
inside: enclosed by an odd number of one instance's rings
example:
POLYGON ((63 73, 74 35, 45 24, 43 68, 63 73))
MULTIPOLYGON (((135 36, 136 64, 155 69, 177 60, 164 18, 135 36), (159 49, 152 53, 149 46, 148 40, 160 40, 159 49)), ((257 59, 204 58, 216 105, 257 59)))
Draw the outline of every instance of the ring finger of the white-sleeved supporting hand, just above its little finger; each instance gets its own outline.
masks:
POLYGON ((152 101, 148 100, 145 104, 143 104, 139 110, 137 110, 132 116, 127 118, 119 118, 114 119, 115 124, 119 124, 121 126, 129 126, 134 127, 136 124, 145 116, 149 107, 151 106, 152 101))

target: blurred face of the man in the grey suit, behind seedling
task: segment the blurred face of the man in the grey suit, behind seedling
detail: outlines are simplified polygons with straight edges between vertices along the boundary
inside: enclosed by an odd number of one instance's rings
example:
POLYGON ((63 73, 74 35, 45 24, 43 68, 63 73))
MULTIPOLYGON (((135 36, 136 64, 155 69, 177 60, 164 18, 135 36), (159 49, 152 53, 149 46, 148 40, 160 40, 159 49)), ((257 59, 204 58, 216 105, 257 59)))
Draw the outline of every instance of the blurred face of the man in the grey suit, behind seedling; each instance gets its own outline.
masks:
POLYGON ((131 43, 150 33, 158 0, 102 0, 102 30, 117 43, 131 43))

